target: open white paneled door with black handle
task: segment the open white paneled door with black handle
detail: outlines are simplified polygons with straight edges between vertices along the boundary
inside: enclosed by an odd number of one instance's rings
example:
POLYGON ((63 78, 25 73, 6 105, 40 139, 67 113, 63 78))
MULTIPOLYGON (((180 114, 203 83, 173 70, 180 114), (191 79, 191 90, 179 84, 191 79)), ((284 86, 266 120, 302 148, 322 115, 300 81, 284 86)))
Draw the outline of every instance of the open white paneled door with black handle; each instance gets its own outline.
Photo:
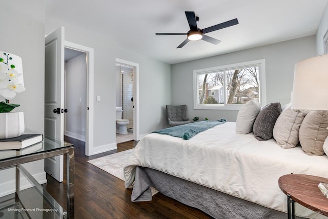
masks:
MULTIPOLYGON (((45 135, 64 141, 64 27, 45 39, 45 135)), ((45 171, 63 182, 63 155, 45 159, 45 171)))

